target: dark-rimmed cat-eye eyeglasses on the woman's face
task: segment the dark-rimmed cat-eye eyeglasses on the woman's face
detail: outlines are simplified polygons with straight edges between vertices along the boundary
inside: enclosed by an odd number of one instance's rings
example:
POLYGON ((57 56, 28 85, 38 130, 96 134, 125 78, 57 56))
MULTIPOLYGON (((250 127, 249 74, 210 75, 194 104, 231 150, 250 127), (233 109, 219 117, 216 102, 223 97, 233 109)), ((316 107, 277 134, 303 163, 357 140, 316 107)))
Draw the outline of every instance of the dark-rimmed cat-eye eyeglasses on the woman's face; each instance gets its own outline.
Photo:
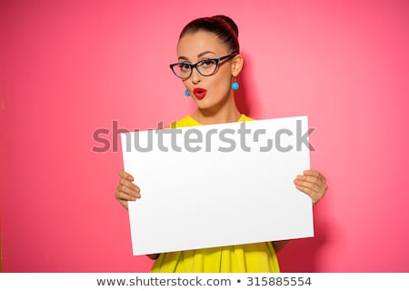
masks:
POLYGON ((232 57, 234 57, 234 55, 237 54, 234 53, 230 55, 224 55, 218 58, 206 58, 205 60, 199 61, 196 64, 189 64, 185 62, 175 63, 170 65, 170 68, 172 69, 172 72, 174 72, 174 74, 181 79, 187 79, 188 77, 190 77, 192 75, 194 67, 200 75, 214 75, 214 73, 217 71, 219 63, 223 60, 231 59, 232 57))

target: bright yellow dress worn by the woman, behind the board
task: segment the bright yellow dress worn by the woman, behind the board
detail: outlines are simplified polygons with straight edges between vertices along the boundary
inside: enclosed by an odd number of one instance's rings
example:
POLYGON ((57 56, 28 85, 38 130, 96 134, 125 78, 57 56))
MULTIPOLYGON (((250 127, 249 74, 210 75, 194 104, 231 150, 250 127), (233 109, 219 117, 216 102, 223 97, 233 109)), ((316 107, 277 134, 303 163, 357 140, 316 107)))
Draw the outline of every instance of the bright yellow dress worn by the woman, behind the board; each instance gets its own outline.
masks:
MULTIPOLYGON (((253 120, 241 115, 238 122, 253 120)), ((201 125, 191 116, 171 127, 201 125)), ((271 273, 280 272, 272 243, 221 246, 161 254, 153 273, 271 273)))

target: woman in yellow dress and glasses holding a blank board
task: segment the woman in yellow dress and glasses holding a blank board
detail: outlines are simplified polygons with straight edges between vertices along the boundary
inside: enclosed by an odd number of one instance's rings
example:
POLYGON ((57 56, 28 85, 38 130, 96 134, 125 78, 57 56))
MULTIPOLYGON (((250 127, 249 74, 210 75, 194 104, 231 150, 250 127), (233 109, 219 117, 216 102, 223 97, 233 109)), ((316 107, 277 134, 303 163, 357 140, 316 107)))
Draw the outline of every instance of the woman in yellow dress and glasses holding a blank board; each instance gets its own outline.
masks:
MULTIPOLYGON (((250 121, 234 103, 235 81, 244 65, 234 21, 224 15, 198 18, 183 29, 177 45, 178 63, 174 74, 186 87, 197 109, 192 115, 176 121, 172 127, 211 125, 250 121)), ((119 203, 127 209, 127 201, 140 198, 134 177, 119 172, 115 191, 119 203)), ((294 179, 294 186, 318 202, 327 189, 324 176, 313 170, 294 179)), ((149 255, 155 259, 152 272, 279 272, 275 255, 286 241, 264 242, 241 246, 224 246, 198 250, 149 255)))

